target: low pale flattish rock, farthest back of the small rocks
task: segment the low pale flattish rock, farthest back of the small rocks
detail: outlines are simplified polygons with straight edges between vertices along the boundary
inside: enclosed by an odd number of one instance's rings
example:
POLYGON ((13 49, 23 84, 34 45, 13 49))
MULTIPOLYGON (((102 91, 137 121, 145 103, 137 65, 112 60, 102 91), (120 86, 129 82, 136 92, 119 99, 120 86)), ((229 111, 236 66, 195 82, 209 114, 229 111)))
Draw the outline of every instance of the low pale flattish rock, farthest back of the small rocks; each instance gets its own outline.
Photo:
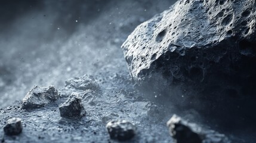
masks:
POLYGON ((65 83, 66 83, 66 87, 75 88, 82 91, 86 91, 88 89, 97 91, 100 87, 98 86, 98 83, 95 82, 94 77, 89 76, 87 74, 81 77, 74 77, 72 79, 69 79, 65 83))

